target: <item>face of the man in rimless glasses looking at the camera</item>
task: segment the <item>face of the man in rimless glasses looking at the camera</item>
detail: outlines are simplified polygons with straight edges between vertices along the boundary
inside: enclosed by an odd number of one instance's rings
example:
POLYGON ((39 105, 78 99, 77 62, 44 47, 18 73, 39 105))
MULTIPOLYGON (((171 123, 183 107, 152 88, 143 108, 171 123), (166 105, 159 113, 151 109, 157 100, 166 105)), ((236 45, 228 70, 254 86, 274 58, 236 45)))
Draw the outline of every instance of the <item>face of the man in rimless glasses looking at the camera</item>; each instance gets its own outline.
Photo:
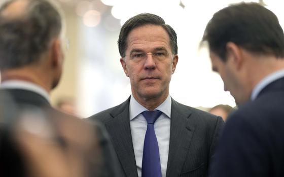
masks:
POLYGON ((132 95, 138 100, 165 99, 178 60, 171 54, 167 32, 158 25, 134 28, 128 34, 125 53, 120 61, 130 78, 132 95))

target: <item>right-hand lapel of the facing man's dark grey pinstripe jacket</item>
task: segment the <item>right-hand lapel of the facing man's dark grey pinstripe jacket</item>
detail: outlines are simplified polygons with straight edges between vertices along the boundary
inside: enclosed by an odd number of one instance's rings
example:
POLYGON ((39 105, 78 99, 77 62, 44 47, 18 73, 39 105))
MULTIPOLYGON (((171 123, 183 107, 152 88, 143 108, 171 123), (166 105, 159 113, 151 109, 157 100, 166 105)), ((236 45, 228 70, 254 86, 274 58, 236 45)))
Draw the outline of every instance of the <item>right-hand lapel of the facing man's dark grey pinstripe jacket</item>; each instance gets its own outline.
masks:
POLYGON ((195 125, 189 124, 191 111, 172 99, 169 155, 166 176, 179 176, 187 157, 195 125))

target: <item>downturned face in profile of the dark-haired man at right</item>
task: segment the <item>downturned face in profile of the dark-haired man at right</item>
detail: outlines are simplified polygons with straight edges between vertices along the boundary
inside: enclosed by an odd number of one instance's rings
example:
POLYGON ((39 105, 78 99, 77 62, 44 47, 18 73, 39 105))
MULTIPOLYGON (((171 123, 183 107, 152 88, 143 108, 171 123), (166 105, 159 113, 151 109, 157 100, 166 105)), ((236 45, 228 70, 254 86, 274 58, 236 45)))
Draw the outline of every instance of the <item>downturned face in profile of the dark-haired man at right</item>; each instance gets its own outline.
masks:
POLYGON ((230 91, 230 94, 235 98, 236 104, 241 104, 247 101, 244 89, 236 72, 236 63, 232 57, 228 57, 227 61, 223 61, 217 54, 210 51, 210 59, 212 70, 219 73, 224 83, 224 91, 230 91))

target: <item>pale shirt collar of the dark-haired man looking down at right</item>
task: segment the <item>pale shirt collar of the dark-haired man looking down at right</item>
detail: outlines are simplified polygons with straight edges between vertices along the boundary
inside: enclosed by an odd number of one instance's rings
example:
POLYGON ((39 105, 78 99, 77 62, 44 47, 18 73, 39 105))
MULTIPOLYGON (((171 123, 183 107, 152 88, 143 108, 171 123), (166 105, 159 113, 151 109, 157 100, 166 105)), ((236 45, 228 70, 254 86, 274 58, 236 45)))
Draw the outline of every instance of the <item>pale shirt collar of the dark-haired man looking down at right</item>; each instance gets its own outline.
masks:
POLYGON ((262 89, 264 89, 268 84, 272 83, 273 81, 276 81, 277 79, 280 79, 284 77, 284 69, 278 70, 275 73, 272 73, 268 76, 266 76, 264 79, 262 79, 253 89, 251 100, 255 100, 258 96, 258 94, 261 92, 262 89))

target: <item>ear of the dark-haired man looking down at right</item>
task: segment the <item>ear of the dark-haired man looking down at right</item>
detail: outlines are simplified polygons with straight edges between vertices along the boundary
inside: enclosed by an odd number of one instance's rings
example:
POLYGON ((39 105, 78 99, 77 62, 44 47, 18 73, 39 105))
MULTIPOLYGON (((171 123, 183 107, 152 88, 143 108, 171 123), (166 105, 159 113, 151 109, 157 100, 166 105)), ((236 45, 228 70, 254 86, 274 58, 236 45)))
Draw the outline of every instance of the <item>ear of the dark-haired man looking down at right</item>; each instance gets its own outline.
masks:
POLYGON ((228 42, 226 44, 227 62, 233 62, 236 69, 239 70, 243 64, 242 49, 235 43, 228 42))

